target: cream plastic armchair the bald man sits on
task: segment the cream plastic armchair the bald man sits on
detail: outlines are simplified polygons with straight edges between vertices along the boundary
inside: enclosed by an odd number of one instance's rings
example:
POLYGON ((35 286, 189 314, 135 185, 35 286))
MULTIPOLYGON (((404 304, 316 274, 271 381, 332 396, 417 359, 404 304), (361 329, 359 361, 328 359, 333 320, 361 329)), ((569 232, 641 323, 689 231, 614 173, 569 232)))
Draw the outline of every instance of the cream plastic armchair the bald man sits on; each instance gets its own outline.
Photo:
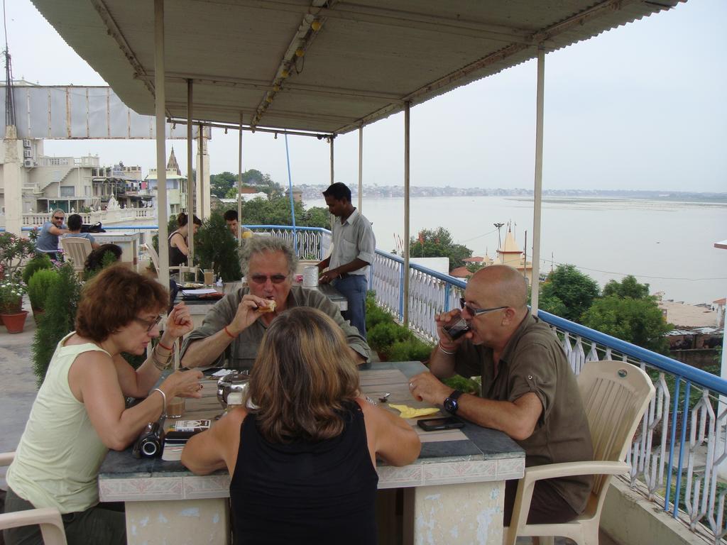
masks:
MULTIPOLYGON (((518 483, 513 517, 505 528, 505 545, 518 536, 563 536, 579 545, 598 545, 598 524, 613 475, 629 470, 624 461, 644 411, 654 397, 654 384, 640 368, 621 361, 590 361, 578 376, 593 440, 593 461, 528 467, 518 483), (594 475, 593 488, 579 517, 562 524, 527 524, 533 488, 538 480, 594 475)), ((540 543, 552 543, 550 538, 540 543)))

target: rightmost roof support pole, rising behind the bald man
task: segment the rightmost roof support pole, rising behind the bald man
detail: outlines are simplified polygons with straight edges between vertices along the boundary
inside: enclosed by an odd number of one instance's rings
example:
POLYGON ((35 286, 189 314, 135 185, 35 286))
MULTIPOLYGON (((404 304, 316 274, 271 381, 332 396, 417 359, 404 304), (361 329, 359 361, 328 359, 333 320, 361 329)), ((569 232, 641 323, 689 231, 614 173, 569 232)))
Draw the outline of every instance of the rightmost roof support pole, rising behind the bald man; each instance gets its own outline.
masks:
MULTIPOLYGON (((531 281, 531 312, 538 314, 540 291, 540 212, 543 190, 543 105, 545 94, 545 48, 538 47, 537 96, 535 107, 535 188, 533 191, 533 270, 531 281)), ((528 267, 526 262, 525 267, 528 267)))

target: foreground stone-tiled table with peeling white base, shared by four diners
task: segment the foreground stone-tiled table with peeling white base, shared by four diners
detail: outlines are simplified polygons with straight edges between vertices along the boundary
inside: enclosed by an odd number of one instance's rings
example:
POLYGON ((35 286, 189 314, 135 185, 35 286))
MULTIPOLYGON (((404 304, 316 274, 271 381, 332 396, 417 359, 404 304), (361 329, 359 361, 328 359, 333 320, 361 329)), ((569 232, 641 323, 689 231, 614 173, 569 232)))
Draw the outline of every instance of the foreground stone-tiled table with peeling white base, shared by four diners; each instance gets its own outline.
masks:
MULTIPOLYGON (((427 406, 409 395, 408 378, 419 362, 373 363, 361 370, 361 386, 374 400, 427 406)), ((205 384, 214 390, 214 382, 205 384)), ((393 410, 393 409, 391 409, 393 410)), ((184 418, 220 411, 214 397, 201 400, 184 418)), ((434 415, 436 416, 436 415, 434 415)), ((505 480, 523 476, 525 453, 509 437, 467 423, 461 430, 422 432, 419 459, 406 467, 379 462, 379 489, 404 493, 404 543, 501 544, 505 480)), ((101 467, 101 501, 126 503, 129 545, 145 543, 226 544, 229 538, 227 472, 197 477, 178 461, 137 460, 130 449, 110 452, 101 467)))

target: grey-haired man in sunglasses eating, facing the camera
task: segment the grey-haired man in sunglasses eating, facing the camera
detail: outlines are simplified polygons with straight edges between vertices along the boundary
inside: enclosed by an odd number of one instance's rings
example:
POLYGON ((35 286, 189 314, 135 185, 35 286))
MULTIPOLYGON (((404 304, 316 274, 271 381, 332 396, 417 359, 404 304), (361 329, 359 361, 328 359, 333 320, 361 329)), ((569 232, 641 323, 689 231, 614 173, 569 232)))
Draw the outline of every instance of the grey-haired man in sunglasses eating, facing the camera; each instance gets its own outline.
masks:
POLYGON ((249 371, 270 322, 292 307, 325 312, 343 330, 356 360, 369 360, 369 345, 343 319, 334 303, 318 290, 292 286, 297 257, 288 242, 272 237, 250 238, 242 249, 241 265, 249 287, 220 299, 202 325, 190 333, 182 344, 183 366, 224 365, 249 371))

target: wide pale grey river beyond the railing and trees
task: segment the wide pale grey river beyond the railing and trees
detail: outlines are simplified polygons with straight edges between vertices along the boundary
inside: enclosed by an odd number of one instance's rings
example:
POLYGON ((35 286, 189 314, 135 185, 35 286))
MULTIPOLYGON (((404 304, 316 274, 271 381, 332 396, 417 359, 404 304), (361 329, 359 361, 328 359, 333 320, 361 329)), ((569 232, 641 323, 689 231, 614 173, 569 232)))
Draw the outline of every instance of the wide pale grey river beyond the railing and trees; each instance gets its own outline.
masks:
MULTIPOLYGON (((356 201, 356 198, 354 198, 356 201)), ((355 202, 356 203, 356 202, 355 202)), ((306 201, 305 206, 323 206, 306 201)), ((364 198, 377 248, 391 251, 403 238, 403 199, 364 198)), ((411 198, 410 233, 445 227, 473 255, 495 256, 510 225, 523 249, 527 231, 532 255, 533 201, 518 197, 411 198)), ((645 201, 615 198, 545 198, 542 205, 541 270, 576 265, 603 286, 634 275, 664 291, 665 299, 712 302, 727 295, 727 203, 645 201)))

